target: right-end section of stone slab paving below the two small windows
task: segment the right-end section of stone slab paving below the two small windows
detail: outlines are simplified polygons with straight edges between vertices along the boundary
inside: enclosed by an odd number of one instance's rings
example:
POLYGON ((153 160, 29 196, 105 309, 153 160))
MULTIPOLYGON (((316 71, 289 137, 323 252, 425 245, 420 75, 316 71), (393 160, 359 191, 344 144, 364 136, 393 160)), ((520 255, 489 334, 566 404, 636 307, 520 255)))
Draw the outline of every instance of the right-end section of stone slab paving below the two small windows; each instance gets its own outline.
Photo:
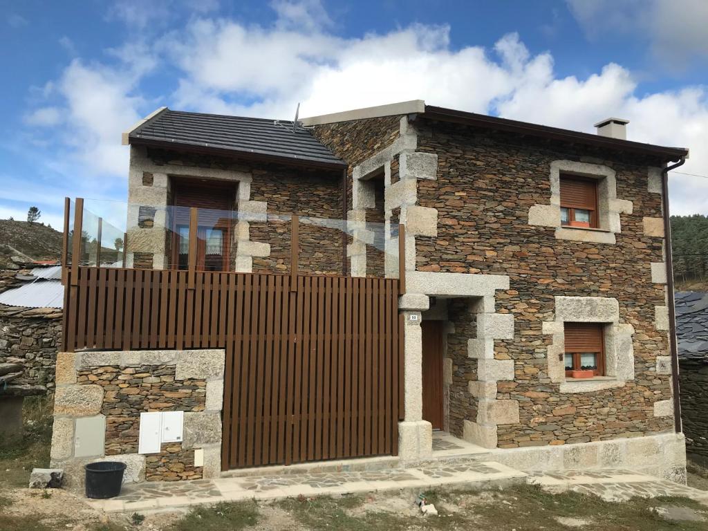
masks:
POLYGON ((708 491, 674 483, 629 470, 576 470, 568 472, 531 472, 529 483, 554 492, 594 494, 605 501, 627 501, 631 498, 684 496, 696 501, 708 501, 708 491))

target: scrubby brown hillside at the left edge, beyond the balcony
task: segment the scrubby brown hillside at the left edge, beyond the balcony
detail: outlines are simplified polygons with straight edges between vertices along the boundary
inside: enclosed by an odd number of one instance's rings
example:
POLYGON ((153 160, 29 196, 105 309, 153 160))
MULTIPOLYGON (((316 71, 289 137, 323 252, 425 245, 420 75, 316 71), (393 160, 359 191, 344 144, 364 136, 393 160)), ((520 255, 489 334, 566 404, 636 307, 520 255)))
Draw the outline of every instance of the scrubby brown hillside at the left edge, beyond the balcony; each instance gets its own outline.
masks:
POLYGON ((0 265, 18 253, 33 260, 58 259, 62 233, 41 223, 0 219, 0 265))

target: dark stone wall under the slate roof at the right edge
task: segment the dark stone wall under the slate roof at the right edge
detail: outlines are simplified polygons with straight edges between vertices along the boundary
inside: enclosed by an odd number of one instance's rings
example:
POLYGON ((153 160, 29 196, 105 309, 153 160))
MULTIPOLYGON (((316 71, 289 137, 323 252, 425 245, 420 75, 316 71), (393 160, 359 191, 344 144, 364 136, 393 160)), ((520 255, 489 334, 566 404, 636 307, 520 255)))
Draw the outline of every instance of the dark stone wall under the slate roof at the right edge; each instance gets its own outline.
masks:
POLYGON ((686 452, 697 462, 708 464, 708 360, 679 359, 681 419, 686 435, 686 452))

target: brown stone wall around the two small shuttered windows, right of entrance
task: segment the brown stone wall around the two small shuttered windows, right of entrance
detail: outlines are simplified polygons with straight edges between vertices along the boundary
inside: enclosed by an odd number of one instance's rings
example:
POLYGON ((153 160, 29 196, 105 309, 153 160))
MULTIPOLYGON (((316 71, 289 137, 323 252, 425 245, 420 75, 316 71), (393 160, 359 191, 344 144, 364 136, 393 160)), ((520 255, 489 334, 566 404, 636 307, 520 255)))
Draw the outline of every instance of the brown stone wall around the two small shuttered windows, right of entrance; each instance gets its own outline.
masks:
POLYGON ((513 338, 494 341, 493 357, 514 362, 514 378, 498 382, 496 398, 518 401, 519 418, 498 426, 499 447, 671 430, 670 411, 664 413, 670 375, 657 371, 657 357, 668 350, 658 317, 666 308, 665 286, 652 274, 652 263, 663 261, 663 234, 649 227, 661 219, 661 195, 648 184, 648 167, 658 161, 447 123, 413 123, 418 151, 438 157, 436 178, 417 183, 416 205, 435 209, 438 219, 436 235, 416 237, 416 270, 510 278, 510 289, 496 293, 496 312, 514 316, 513 338), (554 229, 529 224, 530 208, 549 202, 549 171, 559 159, 592 161, 616 172, 617 198, 631 202, 629 213, 619 215, 616 244, 556 239, 554 229), (619 323, 634 331, 632 381, 597 392, 559 392, 549 376, 551 340, 542 326, 554 319, 556 296, 617 299, 619 323))

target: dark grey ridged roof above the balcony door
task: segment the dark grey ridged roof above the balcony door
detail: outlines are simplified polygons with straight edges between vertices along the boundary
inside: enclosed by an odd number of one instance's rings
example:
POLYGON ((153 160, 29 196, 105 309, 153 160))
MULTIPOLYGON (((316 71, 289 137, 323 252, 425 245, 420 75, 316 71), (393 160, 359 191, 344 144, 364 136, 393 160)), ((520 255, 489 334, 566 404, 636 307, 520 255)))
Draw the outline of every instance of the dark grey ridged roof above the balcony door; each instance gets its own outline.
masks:
POLYGON ((157 142, 258 154, 275 159, 346 166, 309 131, 292 130, 292 122, 263 118, 185 113, 165 109, 130 132, 130 143, 157 142))

